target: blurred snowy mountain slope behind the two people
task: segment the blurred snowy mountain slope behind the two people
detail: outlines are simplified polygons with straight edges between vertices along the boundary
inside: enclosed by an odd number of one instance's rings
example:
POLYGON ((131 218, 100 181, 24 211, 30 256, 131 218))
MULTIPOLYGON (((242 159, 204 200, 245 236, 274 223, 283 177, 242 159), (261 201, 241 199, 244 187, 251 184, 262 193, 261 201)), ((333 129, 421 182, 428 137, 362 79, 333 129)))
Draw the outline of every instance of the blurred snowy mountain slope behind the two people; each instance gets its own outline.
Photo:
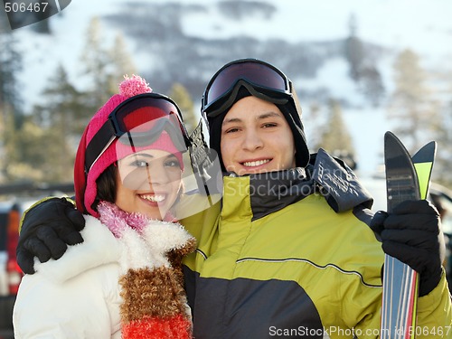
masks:
POLYGON ((24 53, 21 80, 26 108, 40 101, 40 93, 59 63, 69 71, 73 83, 80 88, 88 85, 80 71, 80 54, 93 16, 102 19, 103 43, 111 45, 118 33, 127 37, 138 71, 151 77, 156 90, 163 91, 155 80, 179 81, 187 73, 198 80, 192 86, 199 98, 205 82, 225 61, 253 56, 274 62, 296 84, 308 139, 318 131, 309 124, 310 102, 304 93, 324 90, 352 103, 353 108, 344 109, 344 118, 356 135, 361 171, 372 172, 381 162, 382 134, 391 122, 386 120, 384 108, 369 108, 348 78, 344 60, 332 57, 331 52, 324 55, 325 51, 331 51, 331 42, 349 34, 354 15, 360 39, 391 51, 378 60, 385 87, 391 91, 393 57, 404 48, 418 52, 428 69, 452 69, 451 9, 447 0, 76 0, 52 17, 51 36, 33 33, 30 28, 16 30, 14 36, 24 53), (122 24, 121 18, 125 20, 122 24), (164 26, 158 28, 155 23, 164 26), (142 31, 139 37, 129 33, 133 24, 142 31), (177 35, 168 36, 170 28, 177 35), (266 50, 277 42, 281 48, 268 54, 266 50), (299 70, 302 67, 294 62, 297 53, 328 59, 315 65, 318 70, 299 70))

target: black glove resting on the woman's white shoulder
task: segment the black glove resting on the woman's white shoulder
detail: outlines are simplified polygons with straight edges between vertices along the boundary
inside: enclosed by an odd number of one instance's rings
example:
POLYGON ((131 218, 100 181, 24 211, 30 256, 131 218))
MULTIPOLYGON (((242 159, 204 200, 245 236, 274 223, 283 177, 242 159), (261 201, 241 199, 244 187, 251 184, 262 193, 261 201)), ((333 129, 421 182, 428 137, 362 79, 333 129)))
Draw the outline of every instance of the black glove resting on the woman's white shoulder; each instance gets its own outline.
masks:
POLYGON ((60 259, 68 245, 83 242, 80 231, 85 219, 64 198, 39 202, 24 213, 17 244, 17 263, 27 274, 33 274, 33 257, 41 262, 60 259))

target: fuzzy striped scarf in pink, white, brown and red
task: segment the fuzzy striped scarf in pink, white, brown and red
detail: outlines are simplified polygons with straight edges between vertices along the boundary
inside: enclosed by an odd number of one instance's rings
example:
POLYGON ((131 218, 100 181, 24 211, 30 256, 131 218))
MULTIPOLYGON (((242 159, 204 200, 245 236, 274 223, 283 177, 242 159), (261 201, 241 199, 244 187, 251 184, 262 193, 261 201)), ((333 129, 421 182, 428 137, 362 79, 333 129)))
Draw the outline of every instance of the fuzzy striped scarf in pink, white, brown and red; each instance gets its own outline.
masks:
POLYGON ((126 245, 119 263, 122 338, 191 338, 181 261, 195 249, 194 238, 179 223, 151 221, 109 202, 100 202, 98 211, 126 245))

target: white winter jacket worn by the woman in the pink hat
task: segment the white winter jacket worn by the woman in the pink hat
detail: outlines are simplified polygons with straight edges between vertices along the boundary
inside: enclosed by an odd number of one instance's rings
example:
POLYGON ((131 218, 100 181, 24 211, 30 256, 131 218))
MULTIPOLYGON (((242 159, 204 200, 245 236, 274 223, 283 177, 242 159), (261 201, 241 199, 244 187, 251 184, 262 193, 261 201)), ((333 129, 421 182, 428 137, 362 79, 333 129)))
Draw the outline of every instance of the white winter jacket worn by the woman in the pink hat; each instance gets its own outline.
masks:
POLYGON ((118 239, 98 219, 85 219, 83 243, 61 259, 36 260, 36 273, 24 276, 14 305, 16 339, 120 338, 119 276, 169 265, 165 251, 190 238, 178 223, 150 221, 143 236, 130 229, 118 239))

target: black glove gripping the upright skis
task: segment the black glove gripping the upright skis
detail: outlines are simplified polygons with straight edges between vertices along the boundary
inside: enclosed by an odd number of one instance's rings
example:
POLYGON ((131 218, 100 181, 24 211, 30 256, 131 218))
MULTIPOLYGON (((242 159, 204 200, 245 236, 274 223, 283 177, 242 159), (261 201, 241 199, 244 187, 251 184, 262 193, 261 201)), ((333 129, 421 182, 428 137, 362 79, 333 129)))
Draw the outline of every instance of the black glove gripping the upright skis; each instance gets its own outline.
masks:
POLYGON ((382 249, 419 273, 419 297, 438 286, 446 247, 439 213, 426 200, 400 202, 393 212, 376 212, 371 228, 382 249))

